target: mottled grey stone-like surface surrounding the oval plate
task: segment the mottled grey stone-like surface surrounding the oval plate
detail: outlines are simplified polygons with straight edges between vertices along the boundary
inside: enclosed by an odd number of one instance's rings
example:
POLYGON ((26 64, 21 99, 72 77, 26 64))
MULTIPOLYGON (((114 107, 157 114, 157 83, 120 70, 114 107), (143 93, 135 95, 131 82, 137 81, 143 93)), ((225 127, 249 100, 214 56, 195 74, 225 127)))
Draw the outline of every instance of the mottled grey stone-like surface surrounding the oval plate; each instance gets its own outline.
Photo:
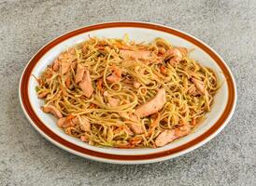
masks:
POLYGON ((255 185, 256 1, 1 1, 0 185, 255 185), (235 75, 235 114, 218 137, 173 160, 92 162, 43 139, 18 98, 21 72, 52 38, 109 20, 169 25, 202 39, 235 75))

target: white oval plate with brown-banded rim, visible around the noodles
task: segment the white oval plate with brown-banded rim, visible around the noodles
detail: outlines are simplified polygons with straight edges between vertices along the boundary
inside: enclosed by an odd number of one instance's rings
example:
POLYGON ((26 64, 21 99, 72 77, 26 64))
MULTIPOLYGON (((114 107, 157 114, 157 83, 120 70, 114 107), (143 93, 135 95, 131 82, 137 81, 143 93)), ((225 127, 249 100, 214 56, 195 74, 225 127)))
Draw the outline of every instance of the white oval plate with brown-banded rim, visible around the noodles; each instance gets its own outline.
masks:
POLYGON ((163 161, 191 152, 213 139, 220 130, 226 126, 235 110, 236 90, 234 77, 220 56, 209 46, 188 33, 159 24, 146 22, 107 22, 79 28, 78 30, 64 33, 43 46, 28 62, 20 82, 21 107, 26 117, 36 130, 55 145, 65 151, 96 161, 117 164, 145 164, 163 161), (43 100, 38 100, 35 86, 36 79, 32 74, 40 73, 62 51, 70 46, 77 45, 88 39, 89 36, 122 38, 128 33, 131 40, 137 42, 152 41, 162 37, 174 46, 194 48, 191 58, 200 64, 212 68, 222 83, 210 113, 206 120, 193 131, 192 134, 180 140, 155 149, 116 149, 91 146, 78 139, 64 134, 56 126, 56 120, 47 113, 43 113, 40 106, 43 100))

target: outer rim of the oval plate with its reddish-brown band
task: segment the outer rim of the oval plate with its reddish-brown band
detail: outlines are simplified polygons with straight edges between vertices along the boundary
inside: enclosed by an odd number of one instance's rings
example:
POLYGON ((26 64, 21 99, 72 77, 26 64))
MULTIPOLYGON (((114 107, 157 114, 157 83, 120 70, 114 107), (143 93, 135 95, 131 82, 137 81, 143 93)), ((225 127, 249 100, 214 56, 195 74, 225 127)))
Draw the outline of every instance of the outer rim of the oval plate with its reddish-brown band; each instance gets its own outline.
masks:
POLYGON ((212 140, 214 137, 216 137, 220 133, 220 131, 227 125, 233 113, 235 112, 236 98, 237 97, 236 97, 235 78, 230 68, 225 63, 225 61, 222 60, 220 55, 212 47, 207 46, 206 43, 204 43, 197 37, 192 36, 189 33, 182 32, 178 29, 174 29, 169 26, 152 23, 152 22, 143 22, 143 21, 109 21, 109 22, 103 22, 98 24, 92 24, 92 25, 80 27, 73 31, 66 32, 58 37, 53 38, 45 46, 42 46, 40 49, 38 49, 36 54, 26 64, 23 72, 21 73, 21 79, 19 84, 19 99, 20 99, 22 111, 25 114, 26 118, 31 123, 31 125, 34 126, 36 130, 44 138, 46 138, 47 140, 50 140, 50 142, 52 142, 58 147, 61 147, 62 149, 64 149, 69 153, 74 153, 79 156, 86 157, 88 159, 92 159, 100 162, 115 163, 115 164, 145 164, 145 163, 159 162, 166 159, 177 157, 184 153, 189 153, 192 150, 204 145, 207 141, 212 140), (57 134, 52 132, 47 126, 45 126, 42 121, 40 121, 40 119, 36 116, 36 113, 34 112, 30 104, 30 101, 25 101, 27 100, 27 98, 29 98, 27 94, 28 89, 23 88, 23 86, 28 87, 29 77, 31 76, 31 73, 34 67, 36 66, 38 60, 40 60, 44 56, 44 54, 46 54, 53 46, 57 46, 60 43, 64 42, 64 40, 69 39, 73 36, 76 36, 80 33, 87 33, 90 31, 95 31, 100 29, 121 28, 121 27, 144 28, 144 29, 148 28, 151 30, 157 30, 157 31, 162 31, 164 33, 174 34, 186 41, 191 42, 193 45, 201 48, 220 67, 221 72, 223 72, 223 70, 226 72, 226 73, 224 72, 223 73, 226 76, 226 82, 228 86, 228 101, 223 113, 220 114, 218 121, 213 126, 211 126, 208 130, 206 130, 206 132, 204 132, 202 135, 195 138, 194 140, 190 140, 187 143, 180 145, 174 149, 165 150, 159 153, 121 155, 121 154, 99 153, 99 152, 94 152, 92 150, 88 150, 86 148, 78 147, 76 144, 71 143, 59 137, 57 134), (30 68, 33 67, 33 68, 28 69, 29 67, 30 68), (25 82, 27 84, 25 84, 25 82), (30 114, 30 113, 33 113, 33 114, 30 114))

